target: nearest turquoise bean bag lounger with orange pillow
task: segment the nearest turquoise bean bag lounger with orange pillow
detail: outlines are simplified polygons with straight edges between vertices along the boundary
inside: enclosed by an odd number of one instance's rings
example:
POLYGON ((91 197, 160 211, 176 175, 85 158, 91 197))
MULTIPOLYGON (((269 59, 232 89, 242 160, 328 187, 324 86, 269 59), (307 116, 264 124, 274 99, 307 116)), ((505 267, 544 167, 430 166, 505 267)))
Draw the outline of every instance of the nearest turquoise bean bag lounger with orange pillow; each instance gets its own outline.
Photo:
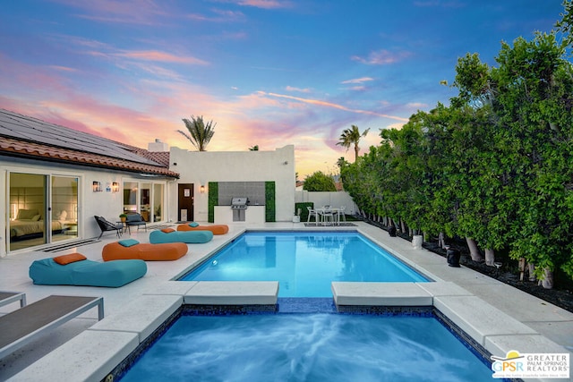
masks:
POLYGON ((29 275, 34 284, 40 285, 83 285, 116 288, 129 284, 147 273, 147 264, 139 259, 107 262, 79 258, 73 253, 36 260, 30 265, 29 275), (56 262, 64 259, 63 262, 56 262), (69 259, 75 259, 66 263, 69 259))

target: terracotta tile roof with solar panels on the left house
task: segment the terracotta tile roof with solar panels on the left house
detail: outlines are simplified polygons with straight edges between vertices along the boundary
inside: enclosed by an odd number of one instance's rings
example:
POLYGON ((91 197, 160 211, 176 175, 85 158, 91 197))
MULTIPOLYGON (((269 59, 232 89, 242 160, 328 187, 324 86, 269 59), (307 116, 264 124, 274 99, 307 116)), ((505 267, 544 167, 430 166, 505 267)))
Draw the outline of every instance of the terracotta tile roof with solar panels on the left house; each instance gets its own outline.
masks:
POLYGON ((0 155, 179 178, 168 152, 150 152, 0 109, 0 155))

